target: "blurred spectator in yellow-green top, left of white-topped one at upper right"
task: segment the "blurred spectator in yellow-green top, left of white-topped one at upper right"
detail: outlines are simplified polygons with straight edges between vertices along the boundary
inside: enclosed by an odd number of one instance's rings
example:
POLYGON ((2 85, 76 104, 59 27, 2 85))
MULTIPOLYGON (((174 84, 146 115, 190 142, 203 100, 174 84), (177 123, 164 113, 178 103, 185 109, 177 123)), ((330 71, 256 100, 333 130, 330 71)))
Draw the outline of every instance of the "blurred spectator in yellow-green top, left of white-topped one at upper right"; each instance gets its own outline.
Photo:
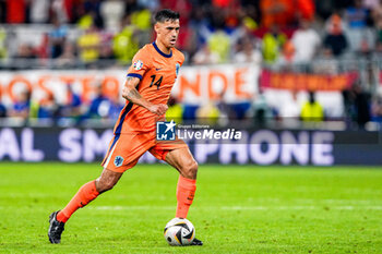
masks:
POLYGON ((271 31, 263 37, 263 59, 266 63, 274 63, 278 59, 280 50, 287 40, 287 36, 282 33, 277 25, 271 26, 271 31))

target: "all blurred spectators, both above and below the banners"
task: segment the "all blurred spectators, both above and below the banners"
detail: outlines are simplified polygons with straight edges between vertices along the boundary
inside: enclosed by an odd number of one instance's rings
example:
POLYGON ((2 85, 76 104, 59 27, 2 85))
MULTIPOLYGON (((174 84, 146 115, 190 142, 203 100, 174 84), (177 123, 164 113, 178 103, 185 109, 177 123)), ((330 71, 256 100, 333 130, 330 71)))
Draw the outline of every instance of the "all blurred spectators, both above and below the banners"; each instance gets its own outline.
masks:
MULTIPOLYGON (((382 0, 0 0, 0 68, 126 69, 136 50, 154 40, 152 15, 165 8, 180 12, 177 47, 188 64, 247 62, 337 74, 351 69, 351 62, 382 60, 382 0)), ((382 95, 370 93, 371 83, 378 83, 373 66, 363 66, 366 85, 358 82, 343 93, 345 117, 361 128, 382 119, 382 95)), ((13 108, 0 104, 0 116, 115 120, 122 107, 102 93, 92 101, 69 96, 68 105, 60 106, 52 97, 35 104, 21 94, 13 108)), ((313 94, 307 104, 291 105, 294 117, 325 119, 313 94)), ((171 110, 186 119, 228 116, 261 122, 283 117, 261 93, 244 105, 222 101, 171 110)))

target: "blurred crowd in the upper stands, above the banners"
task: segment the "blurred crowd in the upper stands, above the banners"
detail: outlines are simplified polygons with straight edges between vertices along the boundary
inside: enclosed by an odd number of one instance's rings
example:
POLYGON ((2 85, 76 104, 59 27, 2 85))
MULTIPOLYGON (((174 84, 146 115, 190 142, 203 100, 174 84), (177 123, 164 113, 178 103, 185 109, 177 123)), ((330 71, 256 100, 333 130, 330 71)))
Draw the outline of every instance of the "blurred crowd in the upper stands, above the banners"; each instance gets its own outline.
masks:
POLYGON ((153 41, 152 14, 164 8, 180 12, 178 48, 189 63, 306 64, 382 52, 380 0, 0 0, 0 58, 123 66, 153 41))

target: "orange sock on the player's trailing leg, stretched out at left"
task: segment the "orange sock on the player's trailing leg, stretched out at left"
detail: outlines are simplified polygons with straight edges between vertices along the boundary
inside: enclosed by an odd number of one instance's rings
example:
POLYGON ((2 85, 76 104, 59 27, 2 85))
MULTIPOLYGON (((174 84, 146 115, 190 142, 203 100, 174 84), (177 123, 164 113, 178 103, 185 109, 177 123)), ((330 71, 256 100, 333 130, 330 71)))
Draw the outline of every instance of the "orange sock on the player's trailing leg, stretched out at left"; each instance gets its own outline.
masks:
POLYGON ((99 193, 96 190, 95 181, 85 183, 82 185, 82 188, 80 188, 79 192, 68 203, 68 205, 57 214, 57 220, 67 222, 75 210, 84 207, 98 195, 99 193))

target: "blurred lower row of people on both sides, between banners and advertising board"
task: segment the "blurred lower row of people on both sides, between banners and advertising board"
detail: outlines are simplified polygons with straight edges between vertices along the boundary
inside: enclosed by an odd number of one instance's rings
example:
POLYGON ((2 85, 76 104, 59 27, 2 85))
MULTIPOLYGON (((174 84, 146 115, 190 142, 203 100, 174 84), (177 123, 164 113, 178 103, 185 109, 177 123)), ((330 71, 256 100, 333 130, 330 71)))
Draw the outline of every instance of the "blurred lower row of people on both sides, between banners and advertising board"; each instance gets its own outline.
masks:
MULTIPOLYGON (((5 106, 0 100, 0 124, 2 125, 59 125, 59 126, 111 126, 124 107, 118 94, 107 96, 103 86, 96 85, 89 99, 76 94, 68 84, 65 102, 59 104, 53 94, 47 94, 36 100, 31 92, 17 93, 14 102, 5 106)), ((262 90, 249 101, 226 104, 224 100, 208 101, 202 105, 178 104, 170 97, 166 117, 177 123, 201 123, 219 126, 251 128, 326 128, 324 122, 345 123, 343 129, 370 130, 368 123, 374 123, 372 130, 382 128, 382 96, 374 98, 359 84, 344 90, 344 114, 331 118, 317 99, 315 92, 290 93, 291 100, 276 108, 267 104, 262 90), (377 123, 377 124, 375 124, 377 123)), ((0 96, 1 98, 1 96, 0 96)), ((382 129, 381 129, 382 130, 382 129)))

